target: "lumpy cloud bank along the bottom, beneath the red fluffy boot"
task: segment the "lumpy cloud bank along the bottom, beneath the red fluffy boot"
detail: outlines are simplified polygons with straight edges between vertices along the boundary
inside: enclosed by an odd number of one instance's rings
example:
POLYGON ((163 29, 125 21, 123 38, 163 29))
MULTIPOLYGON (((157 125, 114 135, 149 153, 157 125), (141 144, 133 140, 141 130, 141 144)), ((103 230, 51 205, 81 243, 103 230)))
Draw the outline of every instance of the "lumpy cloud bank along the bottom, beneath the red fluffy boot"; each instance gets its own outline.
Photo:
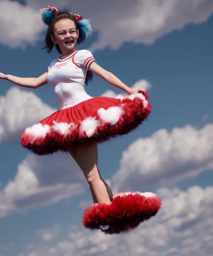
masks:
MULTIPOLYGON (((213 249, 213 187, 187 191, 164 187, 156 192, 162 209, 135 231, 105 236, 88 230, 73 231, 55 246, 35 247, 38 256, 210 256, 213 249)), ((30 251, 26 256, 30 255, 30 251)))

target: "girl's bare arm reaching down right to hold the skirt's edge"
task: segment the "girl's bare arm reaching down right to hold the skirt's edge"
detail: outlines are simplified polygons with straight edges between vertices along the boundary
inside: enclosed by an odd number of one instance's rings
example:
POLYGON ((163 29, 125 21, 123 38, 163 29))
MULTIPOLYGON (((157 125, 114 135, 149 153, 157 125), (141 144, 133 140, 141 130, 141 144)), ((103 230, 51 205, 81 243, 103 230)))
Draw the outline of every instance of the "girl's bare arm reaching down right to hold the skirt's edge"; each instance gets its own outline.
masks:
POLYGON ((121 82, 115 75, 103 69, 95 61, 93 61, 90 64, 89 70, 95 73, 96 75, 100 76, 101 78, 103 78, 105 81, 107 81, 111 85, 114 85, 115 87, 127 92, 129 95, 136 92, 145 91, 144 88, 134 88, 134 89, 129 88, 127 85, 121 82))

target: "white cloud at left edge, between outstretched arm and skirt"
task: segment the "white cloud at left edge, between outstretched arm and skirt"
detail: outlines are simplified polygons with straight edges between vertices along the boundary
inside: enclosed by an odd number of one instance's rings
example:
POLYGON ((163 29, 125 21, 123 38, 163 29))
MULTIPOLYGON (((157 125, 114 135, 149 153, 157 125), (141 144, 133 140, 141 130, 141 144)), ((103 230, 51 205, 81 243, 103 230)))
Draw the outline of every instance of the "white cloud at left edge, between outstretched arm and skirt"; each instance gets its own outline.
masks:
POLYGON ((51 115, 51 108, 33 92, 10 88, 0 97, 0 143, 21 134, 26 127, 51 115))

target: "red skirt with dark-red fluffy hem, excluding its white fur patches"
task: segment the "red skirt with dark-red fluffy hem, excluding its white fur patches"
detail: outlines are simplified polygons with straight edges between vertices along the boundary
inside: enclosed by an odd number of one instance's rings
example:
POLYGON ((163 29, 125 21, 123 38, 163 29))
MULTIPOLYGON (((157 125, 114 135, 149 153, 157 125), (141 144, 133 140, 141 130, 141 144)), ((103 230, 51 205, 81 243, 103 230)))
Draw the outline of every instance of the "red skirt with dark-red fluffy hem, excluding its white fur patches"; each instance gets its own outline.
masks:
MULTIPOLYGON (((147 93, 144 93, 144 96, 148 100, 147 93)), ((103 143, 110 138, 122 136, 133 131, 147 118, 151 112, 151 104, 148 103, 145 108, 143 105, 143 100, 138 97, 135 97, 133 100, 124 98, 122 101, 119 99, 107 98, 111 100, 111 106, 122 107, 123 114, 120 116, 118 122, 114 125, 111 125, 110 123, 104 123, 100 120, 101 125, 98 126, 93 136, 88 138, 86 134, 80 133, 80 118, 81 120, 84 120, 88 116, 93 116, 99 120, 97 111, 102 107, 102 101, 105 100, 106 104, 106 97, 95 97, 94 99, 94 105, 92 104, 93 109, 91 111, 87 110, 87 101, 85 101, 74 107, 71 107, 72 109, 67 108, 64 110, 59 110, 44 120, 40 121, 39 123, 42 125, 47 124, 50 126, 50 130, 46 136, 39 137, 35 140, 33 134, 26 134, 26 132, 23 132, 21 135, 21 145, 37 155, 46 155, 57 151, 65 151, 63 147, 65 143, 78 144, 91 140, 96 140, 99 143, 103 143), (77 120, 73 120, 74 117, 72 116, 72 113, 75 115, 77 120), (53 120, 67 123, 75 122, 75 128, 71 126, 67 135, 60 134, 54 130, 53 120)), ((89 101, 89 104, 91 104, 93 99, 89 101)), ((110 107, 109 104, 105 109, 108 107, 110 107)))

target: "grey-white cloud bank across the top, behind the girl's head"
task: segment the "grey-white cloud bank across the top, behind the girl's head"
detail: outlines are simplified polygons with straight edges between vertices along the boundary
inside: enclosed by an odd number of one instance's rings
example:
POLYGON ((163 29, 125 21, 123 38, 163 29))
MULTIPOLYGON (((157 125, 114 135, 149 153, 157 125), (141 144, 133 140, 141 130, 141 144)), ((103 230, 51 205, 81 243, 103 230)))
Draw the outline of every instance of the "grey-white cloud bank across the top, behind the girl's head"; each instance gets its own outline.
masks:
MULTIPOLYGON (((49 2, 26 0, 26 3, 24 6, 16 1, 0 2, 3 23, 0 29, 1 43, 23 47, 27 43, 34 45, 42 39, 41 32, 46 27, 38 10, 47 7, 49 2)), ((117 49, 125 42, 151 44, 187 24, 206 21, 213 12, 212 0, 131 0, 125 1, 125 4, 122 0, 53 0, 51 5, 58 9, 66 7, 92 20, 98 39, 90 47, 91 51, 106 47, 117 49)))

